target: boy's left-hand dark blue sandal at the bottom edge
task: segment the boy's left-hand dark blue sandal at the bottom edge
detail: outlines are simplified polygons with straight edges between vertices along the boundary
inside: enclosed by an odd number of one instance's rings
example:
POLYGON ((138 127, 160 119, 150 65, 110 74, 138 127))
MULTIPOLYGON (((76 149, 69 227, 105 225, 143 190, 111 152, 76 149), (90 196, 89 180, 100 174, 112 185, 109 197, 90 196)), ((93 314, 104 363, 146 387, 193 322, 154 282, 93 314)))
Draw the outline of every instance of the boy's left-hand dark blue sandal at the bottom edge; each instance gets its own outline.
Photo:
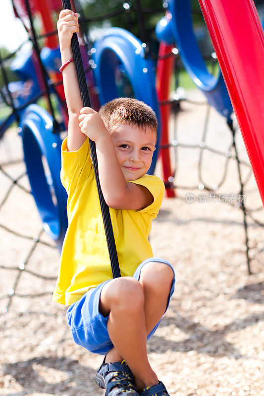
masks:
POLYGON ((105 360, 95 375, 97 385, 106 389, 105 396, 139 396, 126 362, 105 363, 105 360))

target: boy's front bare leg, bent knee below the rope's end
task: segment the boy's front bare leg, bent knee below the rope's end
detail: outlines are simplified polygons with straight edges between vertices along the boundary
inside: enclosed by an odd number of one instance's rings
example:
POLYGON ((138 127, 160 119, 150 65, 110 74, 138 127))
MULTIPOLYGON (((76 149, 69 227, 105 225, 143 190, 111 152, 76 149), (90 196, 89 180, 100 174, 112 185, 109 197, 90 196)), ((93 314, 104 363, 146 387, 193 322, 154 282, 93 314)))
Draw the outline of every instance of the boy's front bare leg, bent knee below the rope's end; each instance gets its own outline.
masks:
POLYGON ((144 294, 140 283, 131 277, 108 282, 102 289, 100 311, 109 318, 109 337, 135 378, 139 390, 158 384, 147 356, 144 294))

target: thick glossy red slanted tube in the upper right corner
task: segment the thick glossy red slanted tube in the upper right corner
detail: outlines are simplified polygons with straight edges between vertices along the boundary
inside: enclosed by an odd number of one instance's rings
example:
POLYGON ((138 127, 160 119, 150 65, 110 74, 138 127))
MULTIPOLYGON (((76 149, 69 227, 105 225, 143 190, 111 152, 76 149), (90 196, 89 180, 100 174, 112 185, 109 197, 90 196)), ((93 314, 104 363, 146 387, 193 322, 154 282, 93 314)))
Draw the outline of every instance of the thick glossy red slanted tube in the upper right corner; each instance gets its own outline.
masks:
POLYGON ((199 0, 264 204, 264 32, 253 0, 199 0))

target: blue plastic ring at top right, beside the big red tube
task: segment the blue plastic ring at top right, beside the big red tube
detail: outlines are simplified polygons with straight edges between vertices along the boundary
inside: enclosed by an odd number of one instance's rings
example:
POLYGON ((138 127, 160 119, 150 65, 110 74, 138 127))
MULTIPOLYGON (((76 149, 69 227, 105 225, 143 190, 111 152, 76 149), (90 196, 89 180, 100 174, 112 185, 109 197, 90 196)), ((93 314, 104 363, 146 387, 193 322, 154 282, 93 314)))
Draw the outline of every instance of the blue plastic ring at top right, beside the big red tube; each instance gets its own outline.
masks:
POLYGON ((229 118, 233 108, 219 69, 218 77, 207 70, 192 24, 191 0, 169 0, 171 18, 165 16, 156 27, 158 40, 172 44, 172 37, 179 49, 182 63, 194 83, 203 91, 208 102, 221 115, 229 118))

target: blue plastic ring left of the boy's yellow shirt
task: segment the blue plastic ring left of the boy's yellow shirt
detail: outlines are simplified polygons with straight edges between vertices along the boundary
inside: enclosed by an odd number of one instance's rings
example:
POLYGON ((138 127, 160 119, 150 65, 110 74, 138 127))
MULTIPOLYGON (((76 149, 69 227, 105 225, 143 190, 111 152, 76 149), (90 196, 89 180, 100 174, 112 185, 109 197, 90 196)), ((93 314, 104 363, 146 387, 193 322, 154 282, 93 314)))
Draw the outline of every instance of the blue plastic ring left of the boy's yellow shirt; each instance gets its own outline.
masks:
POLYGON ((53 133, 53 118, 37 104, 29 105, 19 125, 24 160, 44 229, 61 249, 67 230, 67 194, 60 182, 61 139, 53 133))

